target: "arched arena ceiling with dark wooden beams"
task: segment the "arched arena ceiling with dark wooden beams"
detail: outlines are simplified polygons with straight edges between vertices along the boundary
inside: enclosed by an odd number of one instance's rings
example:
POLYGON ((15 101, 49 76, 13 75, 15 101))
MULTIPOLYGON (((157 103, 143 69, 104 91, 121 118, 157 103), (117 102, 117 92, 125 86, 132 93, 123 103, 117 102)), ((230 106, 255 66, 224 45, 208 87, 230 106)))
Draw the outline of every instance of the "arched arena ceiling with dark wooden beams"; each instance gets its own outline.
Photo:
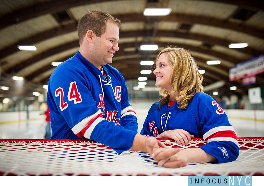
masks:
MULTIPOLYGON (((51 62, 62 62, 79 49, 77 23, 90 10, 102 10, 121 20, 116 67, 126 80, 141 77, 141 60, 154 60, 158 51, 138 50, 141 44, 160 48, 176 45, 195 57, 208 87, 224 82, 219 96, 248 94, 248 88, 264 84, 263 73, 256 83, 243 86, 242 80, 229 81, 229 68, 264 53, 263 0, 1 0, 0 1, 0 101, 16 97, 16 102, 43 93, 55 69, 51 62), (145 8, 171 8, 169 16, 144 16, 145 8), (248 43, 231 49, 230 43, 248 43), (34 45, 36 51, 18 50, 18 45, 34 45), (221 60, 207 65, 207 60, 221 60), (17 85, 13 76, 24 77, 17 85), (229 87, 237 90, 230 91, 229 87)), ((144 75, 145 76, 145 75, 144 75)), ((155 75, 146 75, 155 80, 155 75)))

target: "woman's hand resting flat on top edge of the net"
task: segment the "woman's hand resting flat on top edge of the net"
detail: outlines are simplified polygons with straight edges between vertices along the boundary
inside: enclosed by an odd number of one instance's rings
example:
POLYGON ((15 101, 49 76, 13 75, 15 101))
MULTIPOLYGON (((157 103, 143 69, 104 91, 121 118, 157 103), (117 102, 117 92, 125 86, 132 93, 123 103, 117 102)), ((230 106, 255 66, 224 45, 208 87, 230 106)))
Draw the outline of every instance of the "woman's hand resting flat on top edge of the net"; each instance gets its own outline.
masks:
POLYGON ((183 129, 175 129, 165 131, 159 134, 157 138, 174 139, 179 145, 185 146, 191 141, 191 138, 194 138, 194 136, 183 129))

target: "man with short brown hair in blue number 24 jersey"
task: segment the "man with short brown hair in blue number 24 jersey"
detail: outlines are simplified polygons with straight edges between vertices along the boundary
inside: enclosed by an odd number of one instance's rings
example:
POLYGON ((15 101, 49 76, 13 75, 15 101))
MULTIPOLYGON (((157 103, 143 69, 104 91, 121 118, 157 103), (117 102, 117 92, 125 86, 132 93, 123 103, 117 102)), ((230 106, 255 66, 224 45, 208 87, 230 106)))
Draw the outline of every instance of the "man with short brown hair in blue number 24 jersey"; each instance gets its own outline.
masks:
POLYGON ((109 65, 119 50, 119 28, 119 19, 103 11, 89 11, 80 19, 79 51, 56 67, 48 84, 51 138, 87 138, 119 154, 133 149, 148 152, 157 161, 169 158, 178 150, 160 148, 155 138, 137 133, 125 80, 109 65))

